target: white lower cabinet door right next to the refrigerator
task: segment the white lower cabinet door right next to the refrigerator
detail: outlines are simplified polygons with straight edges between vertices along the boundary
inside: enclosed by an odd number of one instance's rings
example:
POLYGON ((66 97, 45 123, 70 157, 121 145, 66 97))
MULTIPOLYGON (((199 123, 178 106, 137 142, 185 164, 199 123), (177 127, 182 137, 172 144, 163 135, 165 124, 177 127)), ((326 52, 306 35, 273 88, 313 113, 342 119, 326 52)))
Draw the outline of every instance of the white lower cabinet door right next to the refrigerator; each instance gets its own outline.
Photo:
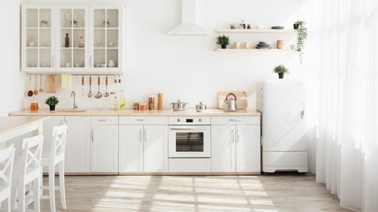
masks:
POLYGON ((236 125, 236 171, 260 172, 260 125, 236 125))

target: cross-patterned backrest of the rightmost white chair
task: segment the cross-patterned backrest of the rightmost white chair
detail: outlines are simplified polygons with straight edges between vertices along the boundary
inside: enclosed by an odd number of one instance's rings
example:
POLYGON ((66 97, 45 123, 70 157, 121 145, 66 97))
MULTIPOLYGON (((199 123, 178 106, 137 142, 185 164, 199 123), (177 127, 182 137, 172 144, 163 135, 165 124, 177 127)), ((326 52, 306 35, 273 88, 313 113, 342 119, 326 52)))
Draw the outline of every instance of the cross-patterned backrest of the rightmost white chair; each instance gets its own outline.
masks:
POLYGON ((64 152, 67 137, 67 123, 53 128, 53 142, 50 147, 50 158, 64 152))

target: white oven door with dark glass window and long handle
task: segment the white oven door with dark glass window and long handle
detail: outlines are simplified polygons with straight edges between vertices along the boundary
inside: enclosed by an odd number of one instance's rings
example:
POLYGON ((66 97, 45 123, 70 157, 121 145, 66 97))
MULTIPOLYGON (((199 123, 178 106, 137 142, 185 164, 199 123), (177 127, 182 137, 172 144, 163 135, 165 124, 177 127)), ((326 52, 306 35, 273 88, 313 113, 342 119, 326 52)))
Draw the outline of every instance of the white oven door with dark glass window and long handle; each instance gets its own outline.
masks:
POLYGON ((209 125, 169 126, 168 138, 170 158, 211 157, 209 125))

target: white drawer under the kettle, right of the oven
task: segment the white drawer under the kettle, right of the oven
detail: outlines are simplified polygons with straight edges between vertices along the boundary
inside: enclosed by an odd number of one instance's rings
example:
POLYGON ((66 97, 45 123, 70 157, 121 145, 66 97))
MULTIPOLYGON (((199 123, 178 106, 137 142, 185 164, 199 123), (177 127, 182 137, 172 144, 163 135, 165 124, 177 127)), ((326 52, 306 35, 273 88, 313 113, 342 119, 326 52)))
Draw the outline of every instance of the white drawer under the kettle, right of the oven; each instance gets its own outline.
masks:
POLYGON ((212 116, 211 124, 260 124, 260 116, 212 116))

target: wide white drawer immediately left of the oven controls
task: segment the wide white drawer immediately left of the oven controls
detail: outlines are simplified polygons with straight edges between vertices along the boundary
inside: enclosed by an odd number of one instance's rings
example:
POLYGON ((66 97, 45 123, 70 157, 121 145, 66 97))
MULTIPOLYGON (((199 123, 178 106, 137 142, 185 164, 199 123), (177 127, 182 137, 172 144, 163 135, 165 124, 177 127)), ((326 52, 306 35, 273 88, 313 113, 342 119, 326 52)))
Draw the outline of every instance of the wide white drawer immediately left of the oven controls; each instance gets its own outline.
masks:
POLYGON ((168 125, 167 116, 120 116, 119 124, 168 125))

